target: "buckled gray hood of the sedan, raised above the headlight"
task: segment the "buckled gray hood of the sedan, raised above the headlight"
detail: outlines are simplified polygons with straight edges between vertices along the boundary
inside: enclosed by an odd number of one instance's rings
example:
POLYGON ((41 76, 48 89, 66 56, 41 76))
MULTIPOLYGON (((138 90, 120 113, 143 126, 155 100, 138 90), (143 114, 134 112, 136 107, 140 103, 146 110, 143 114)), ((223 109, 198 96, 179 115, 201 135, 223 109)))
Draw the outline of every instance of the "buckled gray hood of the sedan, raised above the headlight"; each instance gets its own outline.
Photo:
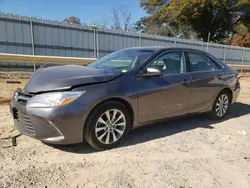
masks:
POLYGON ((29 93, 65 90, 77 85, 107 82, 119 75, 121 73, 79 65, 51 66, 39 68, 24 90, 29 93))

